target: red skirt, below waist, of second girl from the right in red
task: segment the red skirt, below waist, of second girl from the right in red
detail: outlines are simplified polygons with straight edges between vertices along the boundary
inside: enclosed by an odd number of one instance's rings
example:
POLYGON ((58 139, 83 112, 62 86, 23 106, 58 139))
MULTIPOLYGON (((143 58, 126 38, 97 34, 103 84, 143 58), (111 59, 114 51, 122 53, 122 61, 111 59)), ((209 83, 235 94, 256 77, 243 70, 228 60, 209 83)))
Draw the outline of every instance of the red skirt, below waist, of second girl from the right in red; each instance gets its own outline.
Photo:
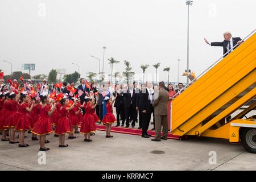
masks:
POLYGON ((85 114, 84 119, 82 119, 80 133, 87 134, 96 131, 96 126, 94 127, 92 123, 95 124, 93 115, 85 114))

